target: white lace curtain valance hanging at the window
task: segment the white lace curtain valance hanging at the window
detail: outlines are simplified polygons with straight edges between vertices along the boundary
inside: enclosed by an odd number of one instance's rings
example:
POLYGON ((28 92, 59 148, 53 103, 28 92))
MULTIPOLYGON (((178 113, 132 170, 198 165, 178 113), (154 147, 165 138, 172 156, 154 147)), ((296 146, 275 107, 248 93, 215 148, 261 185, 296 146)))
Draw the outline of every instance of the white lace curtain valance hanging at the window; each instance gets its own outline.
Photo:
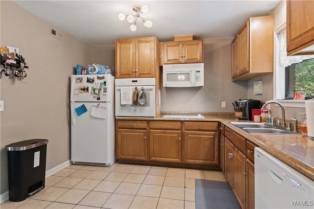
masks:
POLYGON ((287 30, 283 30, 280 35, 279 62, 280 67, 286 68, 292 64, 300 63, 303 60, 314 58, 314 55, 287 56, 287 30))

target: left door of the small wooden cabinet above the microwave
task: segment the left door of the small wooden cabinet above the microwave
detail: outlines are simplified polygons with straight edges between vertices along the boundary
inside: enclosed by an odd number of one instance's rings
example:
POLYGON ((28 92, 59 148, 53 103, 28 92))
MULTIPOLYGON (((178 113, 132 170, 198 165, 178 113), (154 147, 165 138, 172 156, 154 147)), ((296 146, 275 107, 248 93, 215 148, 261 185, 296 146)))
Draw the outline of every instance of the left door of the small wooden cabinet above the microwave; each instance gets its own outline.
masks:
POLYGON ((164 64, 182 63, 182 48, 181 42, 166 42, 163 45, 164 64))

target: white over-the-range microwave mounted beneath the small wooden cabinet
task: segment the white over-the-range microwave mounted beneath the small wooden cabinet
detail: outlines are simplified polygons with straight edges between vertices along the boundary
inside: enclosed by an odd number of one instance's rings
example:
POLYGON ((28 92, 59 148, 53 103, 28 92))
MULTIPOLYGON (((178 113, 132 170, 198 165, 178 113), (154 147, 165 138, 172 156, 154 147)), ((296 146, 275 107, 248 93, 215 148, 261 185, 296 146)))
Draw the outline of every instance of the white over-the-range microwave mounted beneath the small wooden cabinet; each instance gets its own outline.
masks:
POLYGON ((162 74, 164 87, 204 86, 204 63, 163 65, 162 74))

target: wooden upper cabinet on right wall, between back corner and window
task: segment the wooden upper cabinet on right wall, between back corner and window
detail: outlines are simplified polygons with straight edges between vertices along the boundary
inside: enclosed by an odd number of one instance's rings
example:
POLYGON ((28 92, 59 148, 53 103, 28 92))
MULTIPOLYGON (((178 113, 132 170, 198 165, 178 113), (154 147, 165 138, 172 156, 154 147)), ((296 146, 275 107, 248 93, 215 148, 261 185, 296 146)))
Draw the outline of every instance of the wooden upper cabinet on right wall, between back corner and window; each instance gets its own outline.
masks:
POLYGON ((232 80, 251 80, 273 72, 274 16, 250 18, 231 44, 232 80))

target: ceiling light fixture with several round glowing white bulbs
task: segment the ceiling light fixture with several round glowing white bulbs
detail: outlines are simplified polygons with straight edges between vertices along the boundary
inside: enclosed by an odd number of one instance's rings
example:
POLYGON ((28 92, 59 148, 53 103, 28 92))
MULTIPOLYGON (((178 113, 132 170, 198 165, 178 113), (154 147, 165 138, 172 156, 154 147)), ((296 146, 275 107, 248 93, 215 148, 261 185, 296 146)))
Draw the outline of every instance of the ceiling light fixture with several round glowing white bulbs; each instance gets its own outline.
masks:
POLYGON ((146 13, 148 11, 147 5, 143 5, 143 6, 134 5, 133 11, 136 12, 135 15, 124 15, 123 13, 120 13, 118 15, 119 20, 123 21, 124 19, 127 18, 129 23, 133 22, 133 24, 131 24, 131 26, 130 26, 131 31, 136 30, 136 21, 138 18, 142 20, 142 22, 144 23, 144 25, 146 27, 152 27, 152 25, 153 25, 152 21, 145 20, 144 18, 141 17, 142 13, 146 13))

